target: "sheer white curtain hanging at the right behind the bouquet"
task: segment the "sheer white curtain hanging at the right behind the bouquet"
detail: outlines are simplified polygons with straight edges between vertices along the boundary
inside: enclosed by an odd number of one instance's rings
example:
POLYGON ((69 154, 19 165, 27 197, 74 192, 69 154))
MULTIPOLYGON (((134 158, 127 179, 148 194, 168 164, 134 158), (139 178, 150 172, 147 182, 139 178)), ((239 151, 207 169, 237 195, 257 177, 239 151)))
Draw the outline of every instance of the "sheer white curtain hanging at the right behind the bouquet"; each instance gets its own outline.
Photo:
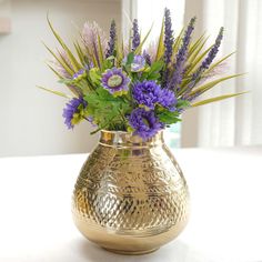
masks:
POLYGON ((202 27, 208 32, 213 36, 220 26, 225 28, 220 54, 236 51, 229 60, 228 73, 248 73, 214 88, 206 97, 251 92, 199 108, 196 145, 262 144, 262 1, 202 0, 201 4, 202 27))

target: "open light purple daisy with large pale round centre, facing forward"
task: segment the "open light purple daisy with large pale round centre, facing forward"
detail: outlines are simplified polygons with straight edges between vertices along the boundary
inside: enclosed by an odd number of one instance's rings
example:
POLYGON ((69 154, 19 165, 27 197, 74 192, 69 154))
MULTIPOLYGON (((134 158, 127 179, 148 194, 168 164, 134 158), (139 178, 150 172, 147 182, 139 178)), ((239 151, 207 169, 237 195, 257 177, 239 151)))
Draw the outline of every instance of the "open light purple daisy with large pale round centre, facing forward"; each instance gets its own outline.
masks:
POLYGON ((108 69, 102 74, 102 87, 110 93, 121 95, 122 92, 129 90, 130 78, 122 71, 121 68, 108 69))

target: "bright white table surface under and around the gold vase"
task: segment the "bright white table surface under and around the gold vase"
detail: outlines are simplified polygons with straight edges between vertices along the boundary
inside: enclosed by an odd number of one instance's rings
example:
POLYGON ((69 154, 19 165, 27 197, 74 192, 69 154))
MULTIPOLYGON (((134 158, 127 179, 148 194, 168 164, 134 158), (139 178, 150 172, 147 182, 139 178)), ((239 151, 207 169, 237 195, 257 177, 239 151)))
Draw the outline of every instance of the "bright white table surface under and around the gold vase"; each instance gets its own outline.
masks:
POLYGON ((173 153, 191 218, 177 240, 139 256, 104 251, 74 228, 71 195, 85 154, 0 159, 0 261, 262 261, 262 147, 173 153))

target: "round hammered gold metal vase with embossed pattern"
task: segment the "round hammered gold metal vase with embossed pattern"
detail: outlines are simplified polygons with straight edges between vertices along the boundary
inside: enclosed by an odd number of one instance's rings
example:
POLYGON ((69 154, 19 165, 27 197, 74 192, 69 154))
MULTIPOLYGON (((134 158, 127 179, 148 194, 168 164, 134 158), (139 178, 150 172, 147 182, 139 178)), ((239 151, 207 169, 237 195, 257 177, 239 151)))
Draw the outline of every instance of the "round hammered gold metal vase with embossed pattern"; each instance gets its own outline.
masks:
POLYGON ((159 132, 149 141, 101 131, 73 192, 73 220, 90 241, 143 254, 173 240, 189 214, 187 182, 159 132))

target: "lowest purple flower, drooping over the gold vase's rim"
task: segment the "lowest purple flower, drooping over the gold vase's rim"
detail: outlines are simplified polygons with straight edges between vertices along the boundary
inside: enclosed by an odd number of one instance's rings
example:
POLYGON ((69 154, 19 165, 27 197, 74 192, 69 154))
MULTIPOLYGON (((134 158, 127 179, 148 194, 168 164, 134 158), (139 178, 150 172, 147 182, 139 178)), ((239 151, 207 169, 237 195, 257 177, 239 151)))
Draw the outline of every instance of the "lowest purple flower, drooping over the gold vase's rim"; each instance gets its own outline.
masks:
POLYGON ((131 112, 129 123, 134 129, 134 134, 138 134, 143 140, 152 138, 159 130, 163 129, 163 123, 155 118, 153 111, 145 111, 141 108, 131 112))

